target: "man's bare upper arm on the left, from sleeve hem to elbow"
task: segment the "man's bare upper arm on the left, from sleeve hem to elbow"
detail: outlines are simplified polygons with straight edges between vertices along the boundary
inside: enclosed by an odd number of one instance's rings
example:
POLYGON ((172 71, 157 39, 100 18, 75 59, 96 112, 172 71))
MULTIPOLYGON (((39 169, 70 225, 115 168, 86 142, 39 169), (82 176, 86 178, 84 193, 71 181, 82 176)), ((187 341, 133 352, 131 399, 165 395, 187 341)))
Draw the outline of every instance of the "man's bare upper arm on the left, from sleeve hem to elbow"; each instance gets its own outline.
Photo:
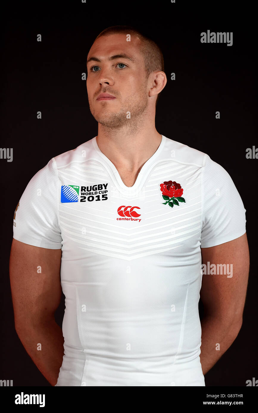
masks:
POLYGON ((16 327, 54 316, 62 293, 61 256, 61 249, 12 240, 10 284, 16 327))

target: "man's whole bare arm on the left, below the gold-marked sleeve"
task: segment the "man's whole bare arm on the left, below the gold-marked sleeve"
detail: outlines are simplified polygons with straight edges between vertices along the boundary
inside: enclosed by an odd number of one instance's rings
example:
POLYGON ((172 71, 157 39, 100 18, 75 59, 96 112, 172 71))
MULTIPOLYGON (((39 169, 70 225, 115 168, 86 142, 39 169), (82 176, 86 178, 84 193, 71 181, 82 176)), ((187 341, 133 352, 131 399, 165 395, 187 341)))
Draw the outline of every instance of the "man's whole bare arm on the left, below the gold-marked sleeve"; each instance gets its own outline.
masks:
POLYGON ((10 283, 15 330, 33 362, 52 386, 64 354, 62 329, 55 322, 60 304, 61 249, 12 240, 10 283))

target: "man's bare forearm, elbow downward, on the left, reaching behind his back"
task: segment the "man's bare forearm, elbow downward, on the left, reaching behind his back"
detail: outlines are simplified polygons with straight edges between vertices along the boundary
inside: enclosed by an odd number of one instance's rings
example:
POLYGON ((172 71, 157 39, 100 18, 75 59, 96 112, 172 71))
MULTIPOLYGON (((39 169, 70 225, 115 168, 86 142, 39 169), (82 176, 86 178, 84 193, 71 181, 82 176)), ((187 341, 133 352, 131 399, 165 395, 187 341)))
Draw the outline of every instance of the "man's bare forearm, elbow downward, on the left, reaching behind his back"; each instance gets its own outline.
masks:
POLYGON ((62 329, 55 320, 39 323, 26 328, 16 326, 16 331, 25 350, 43 376, 52 386, 57 383, 64 355, 62 329))

